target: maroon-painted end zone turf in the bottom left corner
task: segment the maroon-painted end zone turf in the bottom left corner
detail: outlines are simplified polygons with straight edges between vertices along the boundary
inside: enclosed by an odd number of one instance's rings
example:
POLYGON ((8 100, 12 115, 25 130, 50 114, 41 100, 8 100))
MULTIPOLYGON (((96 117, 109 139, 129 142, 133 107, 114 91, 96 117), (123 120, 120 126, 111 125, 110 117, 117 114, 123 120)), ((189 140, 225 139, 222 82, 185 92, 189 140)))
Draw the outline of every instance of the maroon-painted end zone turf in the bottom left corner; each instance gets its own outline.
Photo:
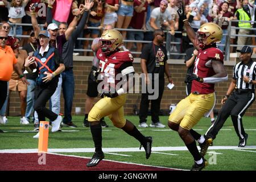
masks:
POLYGON ((174 171, 175 169, 141 166, 102 160, 96 167, 88 168, 89 159, 55 154, 0 154, 0 171, 174 171), (46 164, 43 164, 46 162, 46 164), (39 164, 41 163, 41 164, 39 164))

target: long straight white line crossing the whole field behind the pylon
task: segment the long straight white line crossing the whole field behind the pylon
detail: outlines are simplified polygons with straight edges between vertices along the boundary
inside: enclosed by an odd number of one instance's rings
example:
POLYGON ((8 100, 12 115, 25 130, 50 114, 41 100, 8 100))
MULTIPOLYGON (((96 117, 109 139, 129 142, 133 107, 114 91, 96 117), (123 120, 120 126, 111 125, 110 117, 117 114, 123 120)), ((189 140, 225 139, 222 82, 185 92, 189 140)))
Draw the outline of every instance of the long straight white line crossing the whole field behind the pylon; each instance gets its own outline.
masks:
MULTIPOLYGON (((210 146, 208 150, 236 150, 237 146, 210 146)), ((246 146, 245 149, 256 149, 256 146, 246 146)), ((48 148, 48 152, 94 152, 95 148, 48 148)), ((131 148, 102 148, 104 152, 144 152, 139 147, 131 148)), ((187 151, 187 147, 152 147, 152 152, 162 151, 187 151)), ((31 149, 6 149, 0 150, 0 153, 34 153, 38 152, 38 148, 31 149)))

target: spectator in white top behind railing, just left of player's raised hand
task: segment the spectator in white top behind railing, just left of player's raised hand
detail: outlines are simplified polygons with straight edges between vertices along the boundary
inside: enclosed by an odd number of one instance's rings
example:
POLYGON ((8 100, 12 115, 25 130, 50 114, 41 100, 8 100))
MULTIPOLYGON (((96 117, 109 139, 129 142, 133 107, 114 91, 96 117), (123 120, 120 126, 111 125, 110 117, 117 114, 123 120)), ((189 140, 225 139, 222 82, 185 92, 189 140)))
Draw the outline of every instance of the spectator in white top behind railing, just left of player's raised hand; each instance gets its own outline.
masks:
MULTIPOLYGON (((179 16, 177 15, 177 10, 179 9, 177 6, 177 0, 171 0, 168 3, 167 11, 171 13, 172 21, 174 23, 175 30, 179 28, 179 16)), ((170 53, 180 53, 181 49, 181 38, 177 38, 175 35, 171 35, 172 32, 167 32, 166 37, 166 49, 167 55, 170 53), (171 44, 171 42, 177 42, 177 44, 171 44)), ((170 59, 179 59, 179 55, 170 55, 170 59)))

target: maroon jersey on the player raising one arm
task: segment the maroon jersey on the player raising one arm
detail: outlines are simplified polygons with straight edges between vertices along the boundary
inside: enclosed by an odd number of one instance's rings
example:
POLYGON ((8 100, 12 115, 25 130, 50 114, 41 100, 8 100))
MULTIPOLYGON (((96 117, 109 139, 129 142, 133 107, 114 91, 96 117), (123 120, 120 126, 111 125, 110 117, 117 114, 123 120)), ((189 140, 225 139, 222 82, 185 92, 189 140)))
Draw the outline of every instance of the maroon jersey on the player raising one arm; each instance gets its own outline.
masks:
MULTIPOLYGON (((224 60, 223 52, 216 47, 210 47, 204 50, 200 49, 198 51, 198 54, 194 63, 195 65, 194 65, 193 73, 195 75, 198 75, 201 78, 211 77, 215 75, 216 73, 214 72, 212 66, 210 65, 210 61, 212 59, 223 62, 224 60)), ((213 93, 214 84, 201 83, 193 80, 191 92, 192 93, 199 92, 200 94, 213 93)))

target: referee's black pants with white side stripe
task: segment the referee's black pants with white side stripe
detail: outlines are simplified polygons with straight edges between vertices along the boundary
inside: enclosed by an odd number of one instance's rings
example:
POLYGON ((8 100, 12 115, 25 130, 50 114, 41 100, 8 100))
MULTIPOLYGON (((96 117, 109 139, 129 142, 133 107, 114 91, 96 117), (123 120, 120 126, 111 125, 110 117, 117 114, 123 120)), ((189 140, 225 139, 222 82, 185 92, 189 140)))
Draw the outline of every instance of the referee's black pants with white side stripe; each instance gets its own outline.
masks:
POLYGON ((250 105, 253 104, 254 100, 254 93, 237 94, 236 92, 233 92, 228 100, 226 100, 224 106, 222 106, 214 125, 210 126, 206 135, 215 139, 218 131, 220 131, 224 122, 230 115, 237 136, 239 139, 243 139, 245 137, 245 130, 243 129, 242 117, 250 105))

